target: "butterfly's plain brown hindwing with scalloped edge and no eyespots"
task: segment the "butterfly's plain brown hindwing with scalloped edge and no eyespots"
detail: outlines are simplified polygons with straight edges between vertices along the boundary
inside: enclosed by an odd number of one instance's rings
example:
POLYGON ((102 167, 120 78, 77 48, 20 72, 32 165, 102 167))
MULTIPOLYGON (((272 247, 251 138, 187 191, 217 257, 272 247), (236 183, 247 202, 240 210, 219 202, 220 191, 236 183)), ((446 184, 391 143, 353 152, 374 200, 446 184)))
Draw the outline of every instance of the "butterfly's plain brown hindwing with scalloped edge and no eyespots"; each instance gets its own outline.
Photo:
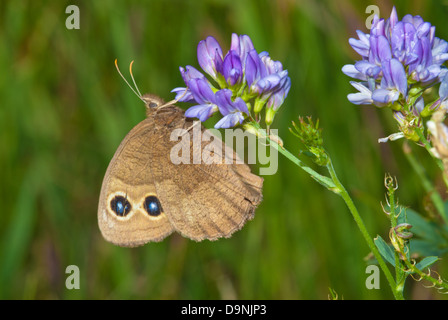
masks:
MULTIPOLYGON (((213 143, 221 150, 214 154, 215 162, 194 164, 193 154, 203 154, 208 143, 192 143, 192 121, 173 107, 156 114, 155 124, 161 142, 158 145, 164 148, 154 149, 153 159, 157 161, 152 161, 150 166, 157 194, 175 230, 196 241, 215 240, 230 237, 253 218, 262 200, 263 179, 252 174, 244 163, 224 163, 226 155, 237 159, 233 149, 215 137, 213 143), (190 162, 187 164, 174 164, 168 151, 179 143, 170 139, 176 128, 190 129, 186 133, 190 135, 187 139, 190 162)), ((204 130, 201 127, 200 132, 204 134, 204 130)))

